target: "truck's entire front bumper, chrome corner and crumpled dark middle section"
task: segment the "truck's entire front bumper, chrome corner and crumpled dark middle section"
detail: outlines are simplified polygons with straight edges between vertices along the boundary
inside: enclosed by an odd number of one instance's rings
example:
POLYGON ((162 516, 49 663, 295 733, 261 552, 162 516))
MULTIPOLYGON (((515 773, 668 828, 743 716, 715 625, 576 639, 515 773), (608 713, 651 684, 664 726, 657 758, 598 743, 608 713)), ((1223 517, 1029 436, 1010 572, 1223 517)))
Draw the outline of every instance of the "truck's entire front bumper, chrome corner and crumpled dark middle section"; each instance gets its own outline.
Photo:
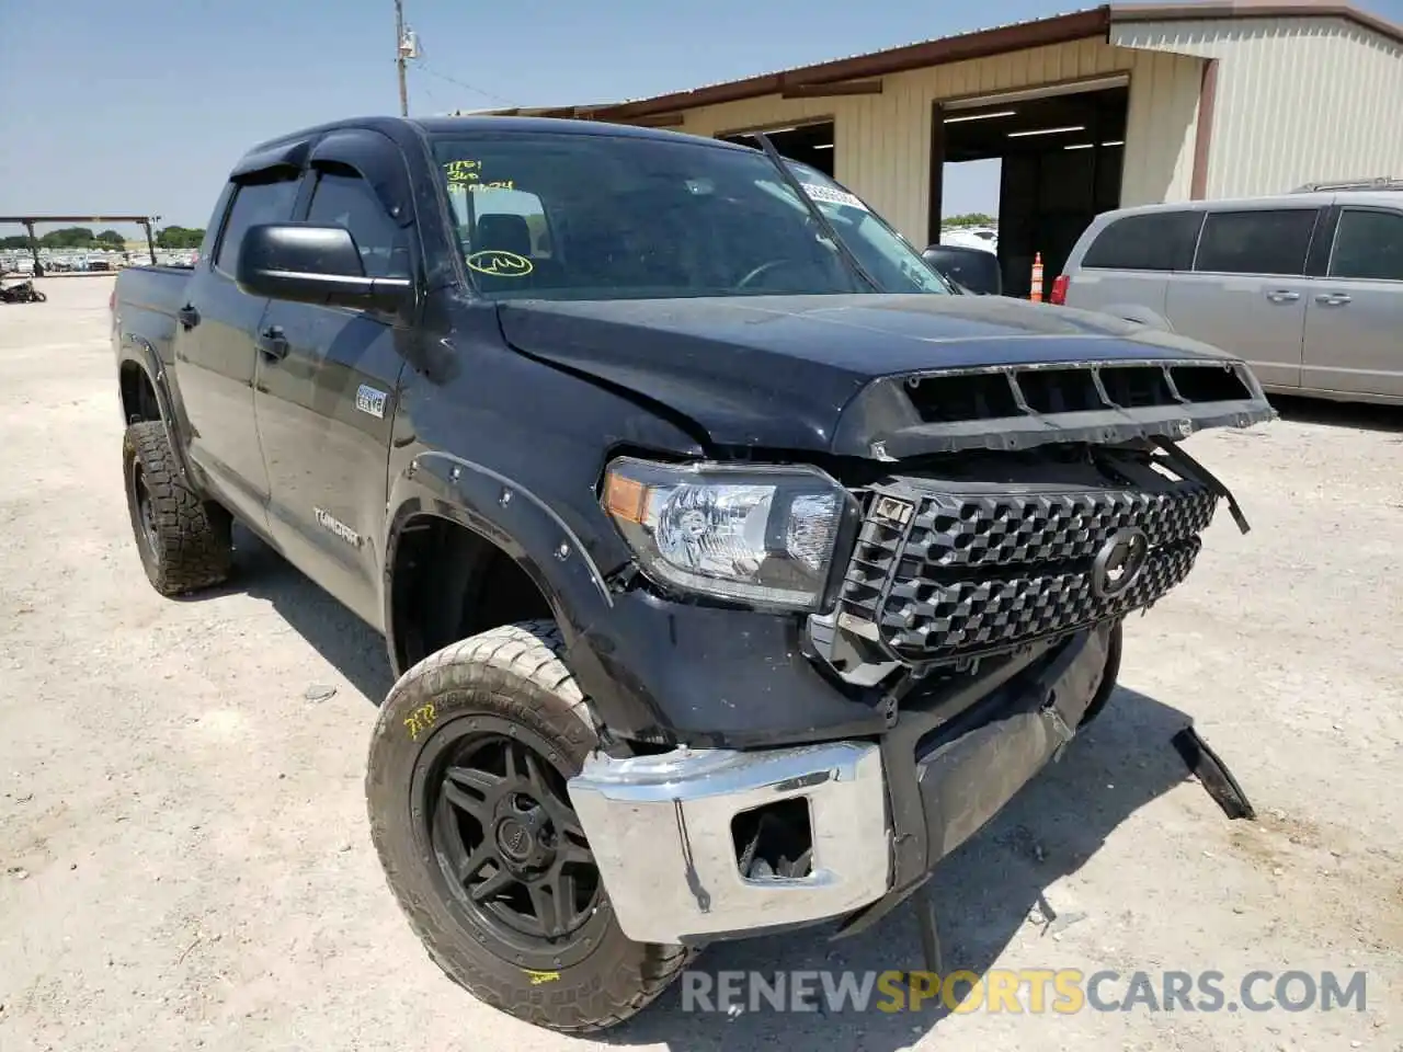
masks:
POLYGON ((908 699, 881 745, 591 756, 570 797, 624 934, 745 936, 915 886, 1061 755, 1115 675, 1118 631, 1106 621, 1007 658, 982 682, 908 699), (969 704, 951 708, 961 693, 969 704), (745 875, 738 840, 748 835, 732 832, 735 818, 796 798, 807 805, 811 867, 796 878, 745 875))

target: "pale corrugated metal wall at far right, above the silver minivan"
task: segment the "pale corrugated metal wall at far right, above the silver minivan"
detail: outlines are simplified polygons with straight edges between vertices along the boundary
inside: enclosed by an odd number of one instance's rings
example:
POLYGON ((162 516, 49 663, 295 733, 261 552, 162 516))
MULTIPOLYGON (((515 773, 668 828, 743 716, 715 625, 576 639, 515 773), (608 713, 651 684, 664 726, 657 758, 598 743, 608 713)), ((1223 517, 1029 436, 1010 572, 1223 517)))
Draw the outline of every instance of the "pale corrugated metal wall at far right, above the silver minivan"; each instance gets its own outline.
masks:
POLYGON ((1219 59, 1208 196, 1403 175, 1403 48, 1343 18, 1142 22, 1124 46, 1219 59))

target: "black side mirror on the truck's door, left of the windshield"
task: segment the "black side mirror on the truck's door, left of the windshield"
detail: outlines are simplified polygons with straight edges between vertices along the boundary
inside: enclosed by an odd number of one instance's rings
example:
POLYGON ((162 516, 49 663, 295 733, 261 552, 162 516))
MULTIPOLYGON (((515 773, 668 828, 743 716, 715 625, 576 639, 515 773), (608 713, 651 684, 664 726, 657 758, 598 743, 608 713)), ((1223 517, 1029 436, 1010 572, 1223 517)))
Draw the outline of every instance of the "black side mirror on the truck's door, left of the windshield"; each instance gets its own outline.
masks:
POLYGON ((398 310, 414 292, 408 278, 366 278, 361 250, 344 226, 309 223, 248 227, 234 283, 250 296, 386 311, 398 310))

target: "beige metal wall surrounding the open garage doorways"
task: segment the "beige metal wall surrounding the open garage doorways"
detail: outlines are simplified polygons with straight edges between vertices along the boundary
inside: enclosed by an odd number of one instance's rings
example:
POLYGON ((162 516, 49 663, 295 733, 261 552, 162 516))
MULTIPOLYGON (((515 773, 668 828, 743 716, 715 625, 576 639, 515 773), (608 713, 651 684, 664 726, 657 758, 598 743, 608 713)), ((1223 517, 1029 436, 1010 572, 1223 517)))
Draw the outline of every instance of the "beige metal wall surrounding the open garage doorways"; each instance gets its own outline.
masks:
POLYGON ((897 73, 880 95, 779 95, 689 109, 678 130, 714 136, 832 118, 836 175, 913 244, 926 243, 932 107, 939 100, 995 94, 1065 80, 1131 74, 1121 201, 1138 205, 1188 196, 1202 60, 1087 39, 988 59, 897 73))

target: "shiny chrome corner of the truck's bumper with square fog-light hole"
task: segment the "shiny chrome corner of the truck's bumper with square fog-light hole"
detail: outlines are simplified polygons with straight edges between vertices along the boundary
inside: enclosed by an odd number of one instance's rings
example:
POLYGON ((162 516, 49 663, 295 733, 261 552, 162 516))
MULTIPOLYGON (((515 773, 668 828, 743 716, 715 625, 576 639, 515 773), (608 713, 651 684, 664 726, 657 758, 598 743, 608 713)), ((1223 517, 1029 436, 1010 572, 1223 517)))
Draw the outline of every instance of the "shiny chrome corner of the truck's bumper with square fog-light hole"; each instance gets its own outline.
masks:
POLYGON ((866 742, 596 755, 570 780, 570 798, 619 926, 640 943, 824 920, 890 886, 882 763, 866 742), (742 875, 732 819, 790 798, 808 804, 808 875, 742 875))

